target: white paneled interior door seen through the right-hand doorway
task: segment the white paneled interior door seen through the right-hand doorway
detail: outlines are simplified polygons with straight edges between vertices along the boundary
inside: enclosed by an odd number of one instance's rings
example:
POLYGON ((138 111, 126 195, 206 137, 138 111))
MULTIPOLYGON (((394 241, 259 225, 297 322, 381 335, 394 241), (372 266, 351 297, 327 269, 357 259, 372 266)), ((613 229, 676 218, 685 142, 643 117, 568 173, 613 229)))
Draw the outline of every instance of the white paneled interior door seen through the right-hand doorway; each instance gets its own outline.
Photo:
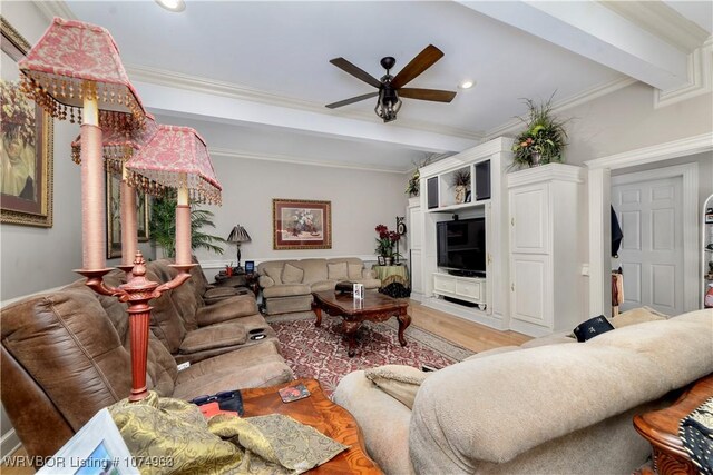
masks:
POLYGON ((612 205, 624 239, 622 310, 649 306, 668 315, 684 307, 683 179, 612 182, 612 205))

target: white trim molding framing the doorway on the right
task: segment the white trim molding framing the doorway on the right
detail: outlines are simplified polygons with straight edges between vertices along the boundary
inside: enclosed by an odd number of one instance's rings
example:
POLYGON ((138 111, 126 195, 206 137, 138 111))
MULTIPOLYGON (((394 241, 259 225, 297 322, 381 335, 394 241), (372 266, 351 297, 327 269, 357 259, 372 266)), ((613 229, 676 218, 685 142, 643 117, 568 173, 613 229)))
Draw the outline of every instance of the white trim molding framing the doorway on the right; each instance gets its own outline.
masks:
MULTIPOLYGON (((685 157, 713 150, 713 132, 703 133, 685 139, 673 140, 665 144, 629 150, 623 154, 597 158, 585 161, 588 171, 588 207, 589 207, 589 310, 590 315, 609 315, 612 300, 612 286, 607 280, 611 269, 608 269, 612 254, 612 243, 607 237, 609 229, 609 207, 611 198, 611 170, 634 167, 637 165, 655 164, 672 158, 685 157), (597 232, 596 230, 602 230, 597 232)), ((696 212, 697 202, 697 176, 687 171, 684 176, 684 206, 690 206, 696 212), (686 188, 688 184, 695 184, 695 196, 686 188), (687 196, 687 198, 686 198, 687 196), (693 201, 691 201, 693 200, 693 201), (685 204, 693 204, 685 205, 685 204)), ((685 216, 684 216, 684 219, 685 216)), ((688 217, 690 219, 690 217, 688 217)), ((694 225, 694 228, 695 229, 694 225)), ((692 232, 688 230, 688 232, 692 232)), ((685 243, 684 237, 684 243, 685 243)), ((690 238, 688 238, 690 239, 690 238)), ((686 261, 688 259, 686 258, 686 261)), ((686 264, 686 263, 684 263, 686 264)), ((695 266, 694 266, 695 268, 695 266)), ((688 281, 688 280, 686 280, 688 281)), ((692 286, 697 289, 697 285, 692 286)), ((687 301, 687 300, 686 300, 687 301)), ((686 304, 687 305, 687 304, 686 304)))

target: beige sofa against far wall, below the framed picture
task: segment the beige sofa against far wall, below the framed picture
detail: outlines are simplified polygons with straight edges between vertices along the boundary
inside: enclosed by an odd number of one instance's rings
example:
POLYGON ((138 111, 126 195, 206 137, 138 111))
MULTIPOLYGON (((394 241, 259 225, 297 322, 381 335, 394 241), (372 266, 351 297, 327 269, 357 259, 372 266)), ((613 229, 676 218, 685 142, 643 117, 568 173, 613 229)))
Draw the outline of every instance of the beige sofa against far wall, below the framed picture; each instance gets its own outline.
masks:
POLYGON ((358 257, 268 260, 257 266, 257 274, 267 315, 306 311, 313 291, 333 290, 341 280, 363 284, 367 289, 381 286, 358 257))

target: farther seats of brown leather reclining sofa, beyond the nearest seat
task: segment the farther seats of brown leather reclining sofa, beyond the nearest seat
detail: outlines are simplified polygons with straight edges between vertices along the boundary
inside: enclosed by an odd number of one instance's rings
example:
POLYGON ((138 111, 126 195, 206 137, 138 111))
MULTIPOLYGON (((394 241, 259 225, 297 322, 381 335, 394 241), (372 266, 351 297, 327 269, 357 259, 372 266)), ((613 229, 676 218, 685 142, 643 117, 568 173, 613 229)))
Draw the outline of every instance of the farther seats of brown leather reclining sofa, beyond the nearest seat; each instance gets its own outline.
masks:
MULTIPOLYGON (((165 259, 146 266, 146 276, 155 281, 168 281, 176 274, 165 259)), ((164 293, 152 305, 152 330, 177 363, 195 363, 266 342, 279 347, 275 331, 257 311, 252 294, 205 306, 197 297, 192 278, 164 293)))

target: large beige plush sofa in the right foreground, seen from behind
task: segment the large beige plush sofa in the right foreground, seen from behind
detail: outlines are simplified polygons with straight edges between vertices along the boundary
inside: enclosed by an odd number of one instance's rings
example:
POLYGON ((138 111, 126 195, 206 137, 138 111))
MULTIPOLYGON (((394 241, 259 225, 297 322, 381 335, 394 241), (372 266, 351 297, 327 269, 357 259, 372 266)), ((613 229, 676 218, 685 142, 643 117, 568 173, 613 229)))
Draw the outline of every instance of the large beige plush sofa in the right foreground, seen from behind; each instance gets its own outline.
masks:
POLYGON ((713 310, 524 346, 431 374, 412 409, 364 372, 334 400, 388 474, 628 474, 651 454, 633 416, 713 372, 713 310))

